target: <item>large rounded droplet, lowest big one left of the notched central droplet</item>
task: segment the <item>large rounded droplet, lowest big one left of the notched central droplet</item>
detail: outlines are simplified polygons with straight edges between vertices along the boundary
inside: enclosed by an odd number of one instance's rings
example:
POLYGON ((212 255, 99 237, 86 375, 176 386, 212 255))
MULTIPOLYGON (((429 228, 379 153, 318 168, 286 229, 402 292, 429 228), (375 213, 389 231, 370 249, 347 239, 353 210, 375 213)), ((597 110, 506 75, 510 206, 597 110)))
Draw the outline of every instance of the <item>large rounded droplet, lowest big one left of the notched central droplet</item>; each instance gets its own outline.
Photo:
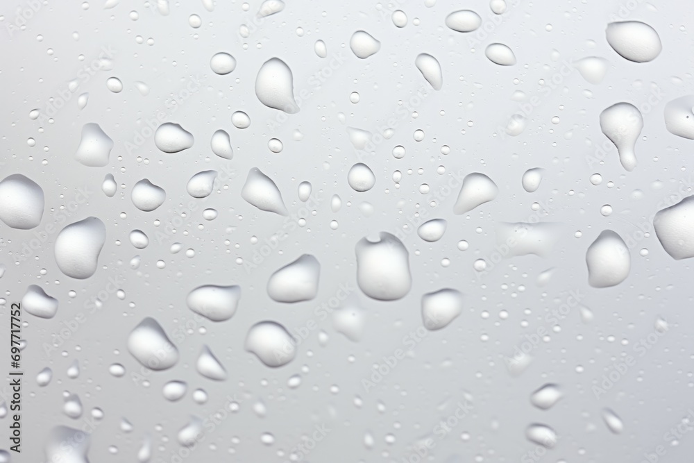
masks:
POLYGON ((282 367, 296 357, 296 342, 280 323, 261 321, 248 330, 246 351, 268 367, 282 367))

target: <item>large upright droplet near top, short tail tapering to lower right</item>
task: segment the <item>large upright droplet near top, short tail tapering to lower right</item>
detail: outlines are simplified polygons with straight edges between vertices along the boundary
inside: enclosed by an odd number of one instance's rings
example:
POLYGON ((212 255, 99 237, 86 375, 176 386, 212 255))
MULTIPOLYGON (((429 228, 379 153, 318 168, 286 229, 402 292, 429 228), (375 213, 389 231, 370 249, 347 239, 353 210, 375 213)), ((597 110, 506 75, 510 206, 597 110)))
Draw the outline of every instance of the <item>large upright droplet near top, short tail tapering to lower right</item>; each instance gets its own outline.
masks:
POLYGON ((294 77, 287 63, 280 58, 270 58, 260 67, 255 78, 255 95, 268 108, 287 114, 299 112, 294 101, 294 77))

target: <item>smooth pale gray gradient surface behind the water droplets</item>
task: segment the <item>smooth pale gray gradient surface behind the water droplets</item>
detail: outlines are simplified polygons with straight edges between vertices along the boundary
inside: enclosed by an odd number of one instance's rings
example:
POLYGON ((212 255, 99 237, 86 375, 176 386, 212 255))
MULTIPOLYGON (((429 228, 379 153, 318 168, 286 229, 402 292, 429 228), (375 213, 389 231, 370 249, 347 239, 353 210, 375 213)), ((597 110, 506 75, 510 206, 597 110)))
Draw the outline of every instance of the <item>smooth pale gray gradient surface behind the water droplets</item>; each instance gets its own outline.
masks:
MULTIPOLYGON (((644 452, 652 453, 659 445, 667 449, 662 461, 690 458, 694 451, 691 434, 675 447, 669 446, 663 435, 680 423, 688 408, 694 408, 694 351, 689 333, 694 323, 691 262, 670 258, 652 234, 630 249, 631 273, 616 287, 589 287, 585 264, 586 249, 602 230, 610 228, 623 237, 633 236, 638 230, 636 224, 651 217, 670 194, 680 189, 691 192, 693 142, 671 135, 663 122, 663 107, 668 101, 694 92, 690 35, 694 14, 688 2, 634 2, 636 8, 626 17, 653 26, 663 42, 660 56, 644 64, 621 58, 604 38, 605 27, 620 11, 617 1, 509 1, 509 12, 500 24, 488 26, 493 30, 474 50, 468 44, 469 35, 450 31, 443 21, 453 10, 469 8, 480 13, 484 24, 491 22, 493 14, 487 1, 439 0, 432 8, 423 1, 382 3, 383 14, 378 3, 369 1, 288 1, 284 11, 267 17, 255 31, 251 28, 247 39, 239 37, 237 31, 241 24, 253 23, 259 1, 251 1, 248 12, 239 1, 217 1, 214 12, 205 10, 200 1, 172 2, 168 16, 140 1, 121 1, 112 9, 103 9, 102 3, 90 1, 90 8, 83 10, 80 1, 51 1, 36 12, 26 30, 12 35, 6 33, 6 26, 15 20, 15 1, 3 3, 0 12, 1 174, 4 178, 22 173, 39 183, 46 196, 42 224, 35 230, 14 230, 0 224, 0 262, 7 267, 0 279, 6 299, 0 310, 1 325, 7 328, 1 335, 6 340, 3 346, 9 344, 8 305, 19 301, 28 285, 40 285, 60 301, 58 314, 51 320, 28 314, 24 317, 23 335, 28 346, 23 353, 27 375, 23 453, 20 457, 12 455, 12 461, 43 461, 51 427, 64 424, 81 428, 92 407, 100 407, 105 417, 92 434, 90 461, 136 461, 142 439, 149 435, 154 446, 152 461, 171 462, 171 455, 180 450, 176 434, 189 416, 209 416, 232 394, 242 402, 240 411, 205 435, 187 460, 282 462, 287 457, 279 457, 278 451, 289 451, 301 442, 302 435, 325 423, 331 432, 305 461, 399 462, 410 455, 409 447, 417 439, 433 437, 434 426, 455 412, 456 403, 466 394, 473 399, 473 412, 443 440, 434 437, 437 445, 430 453, 431 461, 536 461, 522 460, 536 449, 536 444, 525 438, 530 423, 545 423, 559 437, 557 446, 538 461, 640 462, 644 452), (390 18, 390 12, 398 8, 409 17, 402 29, 390 18), (128 18, 130 10, 139 12, 136 22, 128 18), (191 13, 202 17, 201 28, 187 24, 191 13), (421 20, 418 26, 413 24, 415 18, 421 20), (545 30, 546 24, 552 24, 552 31, 545 30), (295 32, 299 26, 305 31, 303 37, 295 32), (382 44, 380 51, 366 60, 356 58, 348 47, 350 35, 359 29, 382 44), (75 31, 79 40, 72 37, 75 31), (43 40, 38 41, 37 35, 43 40), (152 37, 154 44, 137 44, 137 35, 145 41, 152 37), (316 56, 316 40, 325 41, 328 58, 316 56), (511 46, 518 63, 500 67, 487 60, 484 47, 491 42, 511 46), (244 43, 248 49, 243 48, 244 43), (67 81, 108 45, 117 50, 112 70, 101 70, 83 83, 53 123, 28 118, 30 110, 45 108, 49 99, 67 88, 67 81), (52 56, 48 49, 53 50, 52 56), (218 51, 237 59, 237 68, 227 76, 210 71, 210 58, 218 51), (414 66, 414 58, 423 52, 441 62, 440 92, 426 86, 414 66), (84 61, 78 60, 81 54, 84 61), (269 124, 279 112, 263 106, 253 90, 260 65, 275 56, 292 69, 295 93, 310 93, 301 102, 301 111, 289 115, 279 127, 269 124), (316 85, 312 76, 338 56, 344 58, 344 64, 316 85), (551 81, 564 60, 585 56, 609 60, 602 84, 591 85, 573 71, 549 94, 541 90, 539 81, 551 81), (106 89, 110 76, 121 79, 123 92, 106 89), (192 149, 162 153, 151 137, 137 151, 128 153, 125 143, 133 140, 145 119, 167 110, 167 100, 178 95, 191 76, 203 79, 201 89, 180 101, 167 120, 194 135, 192 149), (139 94, 135 81, 148 84, 149 95, 139 94), (600 111, 618 101, 641 106, 654 86, 663 99, 643 114, 636 169, 627 173, 614 148, 609 149, 604 165, 591 165, 586 157, 593 155, 595 144, 607 140, 598 124, 600 111), (427 89, 428 96, 418 105, 410 104, 410 98, 421 88, 427 89), (520 136, 495 135, 518 110, 518 102, 511 100, 515 90, 538 95, 541 104, 532 111, 520 136), (586 96, 586 90, 592 97, 586 96), (353 91, 361 95, 357 104, 349 101, 353 91), (90 100, 84 110, 78 110, 76 99, 82 92, 89 92, 90 100), (404 118, 398 116, 402 108, 398 100, 409 108, 404 118), (246 130, 230 123, 235 110, 250 115, 252 123, 246 130), (416 119, 410 116, 413 110, 418 112, 416 119), (440 115, 441 110, 445 115, 440 115), (346 123, 339 120, 340 112, 346 123), (550 122, 554 116, 561 119, 557 125, 550 122), (365 193, 353 192, 346 172, 359 158, 346 126, 377 133, 378 127, 393 117, 397 119, 393 137, 364 160, 377 177, 375 187, 365 193), (472 126, 468 121, 473 121, 472 126), (88 122, 98 123, 115 141, 108 167, 85 167, 74 160, 82 126, 88 122), (219 128, 232 137, 233 160, 223 160, 210 151, 210 137, 219 128), (425 131, 423 142, 413 140, 418 128, 425 131), (296 130, 303 133, 302 140, 294 139, 296 130), (27 146, 28 137, 35 138, 36 146, 27 146), (267 148, 271 137, 282 140, 281 153, 267 148), (391 155, 396 144, 407 148, 405 158, 397 160, 391 155), (450 154, 441 155, 443 144, 450 146, 450 154), (48 151, 43 151, 44 146, 48 151), (44 159, 47 165, 42 165, 44 159), (232 175, 218 183, 212 195, 200 200, 187 195, 185 183, 192 174, 205 169, 221 172, 225 165, 232 169, 232 175), (439 165, 446 167, 446 174, 437 174, 439 165), (241 199, 239 192, 251 167, 259 167, 276 182, 291 214, 303 208, 296 195, 301 181, 309 180, 321 199, 312 208, 316 213, 305 215, 305 227, 296 227, 277 250, 248 273, 235 260, 252 262, 264 240, 285 224, 283 217, 259 211, 241 199), (531 167, 546 171, 539 190, 529 194, 521 187, 521 175, 531 167), (396 169, 403 172, 399 188, 391 179, 396 169), (418 169, 423 172, 418 174, 418 169), (422 183, 439 191, 451 174, 460 170, 464 174, 488 174, 500 187, 498 198, 456 216, 452 204, 457 188, 434 208, 429 204, 430 195, 418 192, 422 183), (602 185, 589 182, 595 172, 602 174, 602 185), (119 185, 126 185, 113 198, 101 192, 101 181, 108 173, 119 185), (141 212, 130 201, 130 189, 141 178, 149 178, 167 191, 166 203, 155 212, 141 212), (613 187, 607 186, 608 181, 613 187), (62 213, 60 209, 75 199, 78 187, 94 193, 88 203, 71 212, 65 224, 93 215, 107 227, 99 269, 87 280, 69 278, 56 267, 53 242, 57 233, 34 255, 22 257, 22 248, 33 238, 33 231, 45 230, 53 221, 53 211, 62 213), (643 198, 634 200, 632 192, 637 189, 643 198), (332 194, 339 194, 343 201, 337 213, 330 211, 332 194), (155 233, 180 217, 190 201, 197 205, 196 210, 187 214, 175 234, 159 242, 155 233), (359 211, 362 201, 373 205, 371 217, 359 211), (536 213, 530 208, 534 201, 551 207, 536 213), (600 214, 604 204, 613 207, 610 217, 600 214), (204 208, 216 208, 219 217, 205 221, 201 217, 204 208), (405 224, 416 223, 418 210, 427 210, 429 218, 447 219, 446 235, 432 244, 423 242, 416 233, 405 239, 414 277, 405 298, 380 302, 359 290, 353 293, 368 312, 368 319, 362 340, 351 342, 335 332, 330 319, 316 317, 314 309, 335 296, 339 285, 355 285, 354 246, 359 239, 380 231, 395 233, 405 224), (120 217, 121 212, 126 218, 120 217), (473 262, 489 259, 494 251, 497 222, 527 221, 538 215, 542 221, 564 224, 561 240, 549 258, 528 255, 505 259, 484 276, 475 274, 473 262), (157 219, 161 221, 158 227, 157 219), (339 222, 337 230, 330 229, 333 219, 339 222), (198 227, 201 224, 202 229, 198 227), (134 228, 149 235, 146 249, 130 245, 128 233, 134 228), (574 237, 577 230, 582 237, 574 237), (251 244, 253 235, 258 237, 258 244, 251 244), (459 239, 468 240, 467 251, 457 249, 459 239), (225 244, 225 240, 230 243, 225 244), (184 251, 169 253, 174 242, 181 242, 184 251), (194 258, 185 256, 188 248, 195 250, 194 258), (650 251, 645 257, 638 255, 642 248, 650 251), (312 253, 321 262, 318 296, 296 304, 272 301, 265 291, 269 276, 303 253, 312 253), (142 255, 142 264, 133 270, 128 262, 136 254, 142 255), (443 258, 450 259, 449 267, 441 266, 443 258), (167 264, 164 269, 156 267, 160 259, 167 264), (537 276, 550 267, 555 267, 555 275, 548 285, 539 287, 537 276), (40 274, 41 269, 46 269, 45 275, 40 274), (85 302, 116 276, 124 280, 120 287, 126 298, 121 301, 110 294, 102 310, 89 314, 86 323, 46 355, 43 345, 51 342, 62 322, 85 312, 85 302), (242 299, 235 317, 221 323, 197 323, 178 344, 181 358, 176 367, 151 373, 147 376, 149 387, 133 381, 131 375, 139 372, 140 366, 126 349, 128 332, 146 316, 155 317, 164 330, 173 332, 192 319, 185 296, 202 284, 240 285, 242 299), (521 285, 524 290, 519 289, 521 285), (411 355, 366 392, 362 379, 371 376, 373 364, 402 348, 403 336, 421 326, 421 295, 443 287, 465 294, 463 314, 447 328, 430 332, 411 355), (70 290, 77 296, 70 298, 70 290), (534 348, 530 366, 520 376, 511 376, 505 357, 512 355, 525 335, 540 327, 551 328, 545 314, 566 302, 572 290, 585 294, 581 302, 593 311, 593 322, 582 323, 578 310, 573 310, 561 321, 560 332, 534 348), (524 313, 525 309, 530 313, 524 313), (501 310, 507 310, 507 319, 500 319, 501 310), (489 313, 488 318, 484 312, 489 313), (614 361, 634 355, 634 344, 654 332, 657 317, 668 321, 669 332, 638 357, 636 365, 607 394, 596 398, 593 385, 611 371, 614 361), (269 369, 244 351, 248 328, 264 319, 276 320, 292 331, 315 319, 330 340, 326 346, 319 345, 318 330, 313 330, 298 347, 293 362, 269 369), (521 324, 523 321, 527 326, 521 324), (205 334, 198 332, 201 327, 206 328, 205 334), (203 344, 210 346, 226 367, 229 378, 225 382, 208 380, 195 371, 203 344), (352 362, 350 355, 354 356, 352 362), (66 370, 75 359, 81 375, 70 379, 66 370), (108 373, 114 362, 126 367, 126 376, 114 378, 108 373), (53 369, 53 380, 41 388, 34 378, 44 367, 53 369), (303 382, 298 389, 290 389, 287 379, 296 373, 301 373, 303 382), (170 403, 161 391, 165 382, 174 379, 185 380, 189 389, 181 401, 170 403), (536 409, 528 400, 529 394, 545 382, 557 383, 565 394, 548 411, 536 409), (333 385, 339 392, 331 392, 333 385), (192 391, 198 387, 209 394, 204 405, 192 400, 192 391), (62 392, 66 390, 80 396, 85 407, 82 419, 62 414, 62 392), (361 408, 355 407, 355 396, 362 398, 361 408), (264 418, 253 412, 253 403, 258 400, 266 404, 264 418), (384 409, 379 411, 378 404, 384 409), (613 435, 602 422, 600 411, 604 407, 623 419, 620 435, 613 435), (121 417, 133 423, 133 432, 120 430, 121 417), (375 437, 373 449, 363 444, 367 430, 375 437), (275 437, 272 446, 261 443, 263 432, 275 437), (468 441, 461 438, 464 432, 470 435, 468 441), (389 434, 395 437, 393 443, 386 441, 389 434), (108 453, 109 446, 117 446, 117 455, 108 453), (455 460, 456 455, 459 460, 455 460)), ((20 8, 29 8, 27 5, 22 3, 20 8)), ((0 423, 9 424, 8 417, 0 423)), ((0 432, 1 448, 8 446, 3 440, 6 434, 7 430, 0 432)))

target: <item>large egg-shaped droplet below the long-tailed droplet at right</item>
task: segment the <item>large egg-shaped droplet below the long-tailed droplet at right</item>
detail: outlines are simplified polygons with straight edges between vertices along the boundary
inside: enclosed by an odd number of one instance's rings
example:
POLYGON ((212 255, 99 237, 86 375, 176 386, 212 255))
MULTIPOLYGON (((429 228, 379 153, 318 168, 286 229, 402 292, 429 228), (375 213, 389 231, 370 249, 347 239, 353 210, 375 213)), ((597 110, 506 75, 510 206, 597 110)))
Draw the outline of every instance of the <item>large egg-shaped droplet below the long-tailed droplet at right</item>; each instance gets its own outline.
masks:
POLYGON ((586 252, 588 283, 595 288, 622 283, 632 269, 632 258, 622 237, 603 230, 586 252))

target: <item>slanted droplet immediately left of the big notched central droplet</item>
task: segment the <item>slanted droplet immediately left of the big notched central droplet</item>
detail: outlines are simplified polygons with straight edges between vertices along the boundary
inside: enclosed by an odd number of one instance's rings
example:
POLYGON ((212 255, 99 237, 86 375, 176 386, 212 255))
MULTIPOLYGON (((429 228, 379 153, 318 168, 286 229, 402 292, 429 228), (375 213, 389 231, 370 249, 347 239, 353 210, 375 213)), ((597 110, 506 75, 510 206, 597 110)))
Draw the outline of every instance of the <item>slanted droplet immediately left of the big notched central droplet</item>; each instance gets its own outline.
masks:
POLYGON ((270 276, 267 294, 277 302, 310 301, 318 294, 321 264, 314 256, 304 254, 270 276))

